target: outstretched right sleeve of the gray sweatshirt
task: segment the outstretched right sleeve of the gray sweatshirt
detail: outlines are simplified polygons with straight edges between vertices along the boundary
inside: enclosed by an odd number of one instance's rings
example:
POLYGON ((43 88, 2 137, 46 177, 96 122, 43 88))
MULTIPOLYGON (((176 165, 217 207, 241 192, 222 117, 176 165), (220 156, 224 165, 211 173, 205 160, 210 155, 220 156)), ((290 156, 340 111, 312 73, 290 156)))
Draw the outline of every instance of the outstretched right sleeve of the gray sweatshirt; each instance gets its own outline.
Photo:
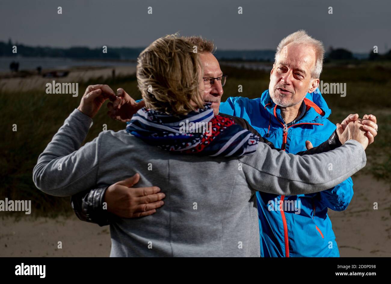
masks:
POLYGON ((315 155, 298 156, 258 144, 253 155, 239 157, 249 185, 278 195, 310 194, 335 187, 366 164, 364 148, 355 140, 315 155), (332 170, 329 164, 334 164, 332 170))

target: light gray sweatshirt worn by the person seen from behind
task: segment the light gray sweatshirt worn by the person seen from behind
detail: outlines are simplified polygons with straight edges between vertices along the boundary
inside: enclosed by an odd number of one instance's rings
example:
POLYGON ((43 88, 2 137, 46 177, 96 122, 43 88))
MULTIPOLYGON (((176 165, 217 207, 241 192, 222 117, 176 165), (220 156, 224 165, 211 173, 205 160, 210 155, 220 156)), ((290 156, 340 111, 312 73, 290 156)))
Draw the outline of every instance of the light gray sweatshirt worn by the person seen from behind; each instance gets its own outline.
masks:
POLYGON ((117 217, 110 225, 110 256, 116 257, 259 257, 255 191, 323 191, 366 164, 365 151, 354 140, 305 156, 261 143, 253 155, 228 158, 173 155, 121 130, 103 131, 80 147, 91 124, 74 110, 39 155, 33 180, 54 196, 106 187, 135 173, 141 177, 137 187, 160 187, 165 204, 155 214, 117 217))

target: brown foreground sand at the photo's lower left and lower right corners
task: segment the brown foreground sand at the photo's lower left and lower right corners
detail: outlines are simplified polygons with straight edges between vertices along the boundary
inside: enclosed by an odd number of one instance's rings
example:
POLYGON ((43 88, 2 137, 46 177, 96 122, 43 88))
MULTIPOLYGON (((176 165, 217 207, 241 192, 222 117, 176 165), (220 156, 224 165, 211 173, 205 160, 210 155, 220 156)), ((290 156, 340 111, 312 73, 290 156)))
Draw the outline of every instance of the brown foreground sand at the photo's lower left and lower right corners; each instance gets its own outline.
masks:
MULTIPOLYGON (((341 257, 391 257, 389 185, 364 175, 353 177, 354 196, 347 210, 329 209, 341 257), (378 210, 373 209, 378 202, 378 210)), ((64 219, 0 219, 1 257, 108 257, 109 226, 64 219), (57 248, 58 242, 62 248, 57 248)))

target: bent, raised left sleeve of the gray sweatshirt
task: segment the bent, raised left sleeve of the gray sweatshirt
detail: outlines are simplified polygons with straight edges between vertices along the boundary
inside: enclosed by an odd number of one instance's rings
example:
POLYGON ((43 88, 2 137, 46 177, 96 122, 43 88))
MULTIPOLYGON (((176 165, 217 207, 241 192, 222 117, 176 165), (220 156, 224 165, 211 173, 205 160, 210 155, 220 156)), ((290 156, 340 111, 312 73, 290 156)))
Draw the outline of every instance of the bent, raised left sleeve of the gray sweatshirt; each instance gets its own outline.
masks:
POLYGON ((69 115, 38 157, 33 169, 38 189, 54 196, 71 196, 95 187, 100 139, 80 147, 91 125, 92 119, 79 110, 69 115))

